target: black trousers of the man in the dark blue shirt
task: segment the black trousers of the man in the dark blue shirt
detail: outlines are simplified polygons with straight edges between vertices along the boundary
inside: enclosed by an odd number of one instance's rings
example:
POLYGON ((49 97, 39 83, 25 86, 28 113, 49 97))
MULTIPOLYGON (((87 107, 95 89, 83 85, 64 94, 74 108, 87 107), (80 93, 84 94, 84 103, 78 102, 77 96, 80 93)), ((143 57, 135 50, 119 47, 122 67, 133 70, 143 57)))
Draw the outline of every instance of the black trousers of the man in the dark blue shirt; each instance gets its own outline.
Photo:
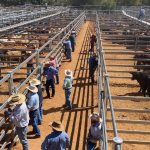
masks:
POLYGON ((51 86, 51 88, 52 88, 52 96, 54 96, 55 95, 55 84, 54 84, 54 80, 53 79, 46 80, 46 93, 47 93, 48 97, 50 97, 49 86, 51 86))

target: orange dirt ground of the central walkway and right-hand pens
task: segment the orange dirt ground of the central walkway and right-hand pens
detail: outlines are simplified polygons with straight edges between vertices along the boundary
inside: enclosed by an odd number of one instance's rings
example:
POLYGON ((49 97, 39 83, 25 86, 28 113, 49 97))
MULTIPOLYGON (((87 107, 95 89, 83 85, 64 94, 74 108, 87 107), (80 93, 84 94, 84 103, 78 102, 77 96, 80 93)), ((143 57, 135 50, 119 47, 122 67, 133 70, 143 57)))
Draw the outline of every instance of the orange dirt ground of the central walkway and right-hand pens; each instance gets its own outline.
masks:
MULTIPOLYGON (((88 78, 88 53, 83 54, 81 51, 89 50, 89 41, 86 36, 86 31, 88 26, 91 26, 90 22, 86 22, 82 27, 77 36, 76 50, 73 53, 72 62, 67 60, 62 61, 60 67, 60 84, 56 85, 56 95, 52 99, 44 99, 43 109, 44 117, 42 125, 40 125, 41 138, 34 139, 34 137, 29 136, 29 149, 30 150, 40 150, 41 144, 52 130, 48 126, 49 122, 53 120, 61 120, 65 126, 66 132, 69 134, 71 139, 71 150, 85 150, 86 149, 86 137, 88 128, 90 126, 90 120, 88 116, 93 111, 97 111, 97 85, 92 85, 88 78), (71 95, 71 100, 73 104, 73 110, 67 111, 62 105, 65 102, 64 91, 62 89, 64 70, 71 69, 74 72, 74 82, 73 90, 71 95)), ((103 43, 107 44, 106 42, 103 43)), ((109 43, 110 44, 110 43, 109 43)), ((104 46, 104 49, 124 49, 126 47, 114 45, 114 46, 104 46)), ((107 58, 132 58, 133 56, 127 55, 105 55, 107 58)), ((133 65, 133 61, 112 61, 107 60, 106 64, 130 64, 133 65)), ((134 70, 132 67, 111 67, 107 66, 108 70, 134 70)), ((109 73, 109 72, 108 72, 109 73)), ((129 73, 109 73, 110 76, 128 76, 131 77, 129 73)), ((130 95, 130 96, 142 96, 138 93, 139 86, 136 81, 131 79, 118 79, 110 78, 110 87, 112 95, 130 95)), ((46 96, 46 93, 43 93, 46 96)), ((114 108, 131 108, 131 109, 150 109, 149 101, 131 101, 131 100, 114 100, 114 108)), ((107 119, 110 119, 110 112, 107 113, 107 119)), ((128 119, 128 120, 150 120, 150 115, 140 112, 115 112, 116 119, 128 119)), ((140 130, 140 131, 150 131, 149 124, 129 124, 129 123, 119 123, 117 122, 118 129, 124 130, 140 130)), ((111 123, 107 122, 107 128, 112 129, 111 123)), ((32 128, 29 127, 29 131, 32 128)), ((149 134, 126 134, 119 133, 119 136, 123 140, 141 140, 150 141, 149 134)), ((112 132, 109 132, 108 139, 112 139, 114 136, 112 132)), ((13 148, 14 150, 21 150, 21 144, 18 144, 13 148)), ((123 144, 123 150, 149 150, 149 145, 135 145, 135 144, 123 144)), ((112 150, 112 144, 109 143, 109 150, 112 150)))

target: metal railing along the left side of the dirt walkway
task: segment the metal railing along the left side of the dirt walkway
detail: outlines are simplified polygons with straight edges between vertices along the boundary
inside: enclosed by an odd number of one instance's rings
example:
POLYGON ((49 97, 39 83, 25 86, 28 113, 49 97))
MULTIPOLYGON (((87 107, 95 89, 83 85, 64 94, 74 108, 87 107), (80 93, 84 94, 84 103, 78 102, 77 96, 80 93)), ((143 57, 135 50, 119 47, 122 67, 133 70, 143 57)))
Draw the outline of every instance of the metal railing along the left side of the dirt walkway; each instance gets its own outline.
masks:
MULTIPOLYGON (((9 92, 10 94, 12 94, 12 92, 20 92, 21 88, 24 87, 26 85, 26 83, 31 79, 31 77, 33 75, 36 74, 36 77, 39 78, 40 80, 42 80, 42 74, 43 74, 43 62, 45 62, 48 57, 51 54, 55 54, 59 63, 61 63, 61 60, 63 58, 63 49, 62 49, 62 42, 63 40, 66 38, 66 36, 71 32, 71 30, 75 30, 76 33, 78 33, 80 31, 80 26, 84 23, 84 18, 85 18, 85 12, 82 12, 77 18, 75 18, 73 21, 71 21, 65 28, 63 28, 57 35, 55 35, 53 38, 51 38, 48 42, 46 42, 41 48, 39 48, 38 50, 36 50, 29 58, 27 58, 24 62, 22 62, 19 66, 17 66, 14 70, 12 70, 9 74, 7 74, 2 80, 0 80, 0 84, 4 81, 9 81, 9 92), (58 42, 58 44, 52 48, 52 42, 53 40, 56 40, 61 34, 63 34, 62 39, 58 42), (43 58, 42 60, 40 60, 39 58, 39 53, 46 48, 47 46, 49 46, 49 53, 46 55, 45 58, 43 58), (13 75, 15 74, 15 72, 19 69, 21 69, 24 65, 27 64, 28 61, 30 61, 32 58, 36 57, 36 68, 32 71, 32 73, 19 85, 14 87, 13 84, 13 75)), ((25 90, 23 93, 26 94, 27 90, 25 90)), ((8 98, 0 107, 0 111, 2 111, 8 104, 10 98, 8 98)), ((0 127, 5 123, 5 119, 2 118, 0 120, 0 127)), ((3 136, 1 137, 1 139, 3 139, 3 137, 5 136, 5 134, 3 134, 3 136)), ((15 139, 17 139, 15 137, 15 139)), ((0 140, 1 141, 1 140, 0 140)), ((6 146, 6 142, 4 142, 1 146, 1 149, 4 149, 6 146)))

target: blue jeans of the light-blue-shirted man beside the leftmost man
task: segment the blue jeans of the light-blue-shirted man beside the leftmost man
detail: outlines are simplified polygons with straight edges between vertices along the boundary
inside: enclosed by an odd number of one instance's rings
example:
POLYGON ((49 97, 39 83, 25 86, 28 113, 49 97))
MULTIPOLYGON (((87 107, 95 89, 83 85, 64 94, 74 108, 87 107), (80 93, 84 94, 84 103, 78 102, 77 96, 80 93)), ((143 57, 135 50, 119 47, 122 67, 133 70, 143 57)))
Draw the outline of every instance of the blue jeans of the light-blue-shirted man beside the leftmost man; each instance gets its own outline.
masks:
POLYGON ((31 125, 33 126, 33 131, 35 132, 36 135, 41 135, 40 129, 38 128, 39 110, 36 109, 36 110, 30 111, 29 115, 30 115, 31 125))

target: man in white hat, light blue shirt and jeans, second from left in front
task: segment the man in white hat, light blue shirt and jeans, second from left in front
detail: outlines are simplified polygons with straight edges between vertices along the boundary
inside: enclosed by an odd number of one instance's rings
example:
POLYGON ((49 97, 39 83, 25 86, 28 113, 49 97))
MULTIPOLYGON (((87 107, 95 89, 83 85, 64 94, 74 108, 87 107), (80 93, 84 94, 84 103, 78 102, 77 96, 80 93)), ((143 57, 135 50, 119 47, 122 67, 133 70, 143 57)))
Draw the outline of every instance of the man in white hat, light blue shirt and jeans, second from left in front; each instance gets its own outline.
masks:
POLYGON ((27 87, 27 107, 29 109, 29 116, 31 125, 33 126, 33 133, 35 137, 41 136, 40 129, 38 128, 38 116, 39 116, 39 96, 37 94, 38 89, 36 86, 30 85, 27 87))

